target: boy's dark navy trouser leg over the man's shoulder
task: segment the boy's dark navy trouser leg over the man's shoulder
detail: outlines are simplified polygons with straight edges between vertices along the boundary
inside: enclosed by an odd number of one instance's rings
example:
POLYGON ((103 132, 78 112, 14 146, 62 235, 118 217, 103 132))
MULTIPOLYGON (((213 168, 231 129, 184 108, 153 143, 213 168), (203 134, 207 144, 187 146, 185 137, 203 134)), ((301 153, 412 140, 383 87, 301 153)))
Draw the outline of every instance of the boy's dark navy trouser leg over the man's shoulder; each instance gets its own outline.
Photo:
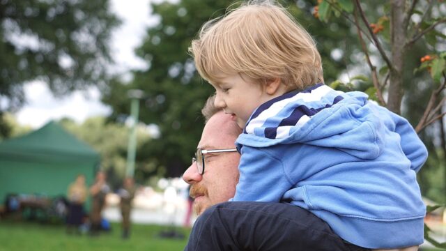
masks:
POLYGON ((344 242, 327 223, 298 206, 238 201, 217 204, 200 215, 185 250, 368 249, 344 242))

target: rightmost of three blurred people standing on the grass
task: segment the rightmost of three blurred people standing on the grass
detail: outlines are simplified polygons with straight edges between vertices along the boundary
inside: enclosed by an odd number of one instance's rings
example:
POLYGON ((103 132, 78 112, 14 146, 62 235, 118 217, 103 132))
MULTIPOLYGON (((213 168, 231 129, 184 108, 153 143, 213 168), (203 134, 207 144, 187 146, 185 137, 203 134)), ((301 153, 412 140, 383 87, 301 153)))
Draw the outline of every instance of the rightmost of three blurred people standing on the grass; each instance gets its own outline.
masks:
POLYGON ((130 211, 132 211, 132 200, 134 198, 134 180, 132 177, 125 177, 123 187, 118 190, 118 195, 121 197, 120 207, 122 219, 122 238, 130 237, 130 211))

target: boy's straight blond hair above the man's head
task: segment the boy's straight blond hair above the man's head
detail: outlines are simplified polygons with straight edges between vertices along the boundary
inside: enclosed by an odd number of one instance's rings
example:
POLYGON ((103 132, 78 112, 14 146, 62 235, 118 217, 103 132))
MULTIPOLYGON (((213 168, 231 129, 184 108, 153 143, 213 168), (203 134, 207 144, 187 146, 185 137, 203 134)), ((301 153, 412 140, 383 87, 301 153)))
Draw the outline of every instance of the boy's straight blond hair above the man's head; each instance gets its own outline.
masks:
POLYGON ((321 55, 293 17, 269 1, 249 1, 203 24, 189 51, 201 77, 240 74, 254 82, 281 79, 286 89, 323 82, 321 55))

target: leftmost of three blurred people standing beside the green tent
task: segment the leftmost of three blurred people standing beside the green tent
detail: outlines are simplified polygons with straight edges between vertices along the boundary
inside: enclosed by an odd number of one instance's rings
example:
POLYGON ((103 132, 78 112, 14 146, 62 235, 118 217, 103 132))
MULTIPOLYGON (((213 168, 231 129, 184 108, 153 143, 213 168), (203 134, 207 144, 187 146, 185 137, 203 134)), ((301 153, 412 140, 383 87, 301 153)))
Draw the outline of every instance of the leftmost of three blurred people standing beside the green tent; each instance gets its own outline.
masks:
POLYGON ((68 186, 67 234, 80 234, 79 226, 84 218, 84 203, 88 195, 84 174, 79 174, 75 182, 68 186))

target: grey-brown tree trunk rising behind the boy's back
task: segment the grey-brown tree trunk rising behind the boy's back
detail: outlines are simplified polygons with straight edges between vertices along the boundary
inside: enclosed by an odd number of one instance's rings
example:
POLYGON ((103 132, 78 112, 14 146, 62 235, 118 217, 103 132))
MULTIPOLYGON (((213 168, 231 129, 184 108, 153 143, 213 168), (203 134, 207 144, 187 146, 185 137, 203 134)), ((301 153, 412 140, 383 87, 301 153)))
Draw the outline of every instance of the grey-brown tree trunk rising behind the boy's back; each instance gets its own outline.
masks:
POLYGON ((390 14, 390 36, 392 45, 392 68, 390 69, 390 85, 387 97, 387 108, 401 114, 401 99, 403 98, 403 67, 404 43, 407 30, 404 27, 406 11, 405 0, 392 0, 390 14))

